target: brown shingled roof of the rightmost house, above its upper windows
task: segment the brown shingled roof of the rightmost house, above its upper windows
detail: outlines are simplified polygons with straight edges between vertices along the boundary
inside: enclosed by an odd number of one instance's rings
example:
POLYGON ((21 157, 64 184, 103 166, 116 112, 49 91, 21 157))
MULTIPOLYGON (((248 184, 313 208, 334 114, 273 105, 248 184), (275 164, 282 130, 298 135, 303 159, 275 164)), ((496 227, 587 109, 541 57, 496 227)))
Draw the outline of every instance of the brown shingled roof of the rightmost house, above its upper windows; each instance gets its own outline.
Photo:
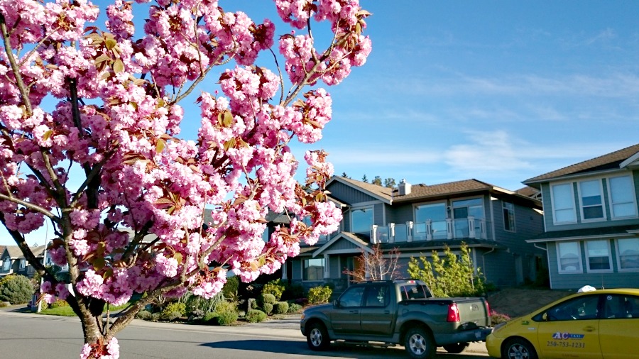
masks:
POLYGON ((627 148, 623 148, 622 150, 593 158, 591 160, 575 163, 574 165, 569 165, 567 167, 560 168, 559 170, 548 172, 537 177, 529 178, 522 183, 530 185, 567 175, 577 175, 585 172, 596 172, 603 170, 618 170, 619 168, 621 168, 621 164, 624 161, 637 155, 637 153, 639 153, 639 143, 627 148))

